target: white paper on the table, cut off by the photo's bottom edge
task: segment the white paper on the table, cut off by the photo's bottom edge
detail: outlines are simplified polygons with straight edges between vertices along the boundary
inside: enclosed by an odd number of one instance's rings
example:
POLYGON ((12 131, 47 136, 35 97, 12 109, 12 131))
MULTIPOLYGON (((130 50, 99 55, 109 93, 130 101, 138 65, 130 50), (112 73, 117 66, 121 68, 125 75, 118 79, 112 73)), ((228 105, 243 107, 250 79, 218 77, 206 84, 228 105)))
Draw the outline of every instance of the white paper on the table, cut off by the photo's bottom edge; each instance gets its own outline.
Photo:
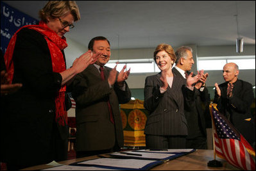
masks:
POLYGON ((70 165, 62 165, 60 167, 52 167, 46 168, 44 170, 115 170, 115 169, 107 169, 107 168, 99 168, 99 167, 78 167, 78 166, 70 166, 70 165))

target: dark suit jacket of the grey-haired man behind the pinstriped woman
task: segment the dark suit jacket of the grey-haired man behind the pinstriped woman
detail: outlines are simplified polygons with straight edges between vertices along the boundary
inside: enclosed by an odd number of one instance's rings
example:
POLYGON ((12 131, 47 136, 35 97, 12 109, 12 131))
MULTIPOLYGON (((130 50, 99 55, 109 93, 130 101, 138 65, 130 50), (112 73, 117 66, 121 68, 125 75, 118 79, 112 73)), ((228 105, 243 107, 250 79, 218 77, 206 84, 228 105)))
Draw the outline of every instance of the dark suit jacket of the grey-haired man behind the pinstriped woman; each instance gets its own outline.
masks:
MULTIPOLYGON (((180 77, 183 80, 183 85, 186 83, 186 79, 180 74, 180 72, 173 68, 173 73, 176 76, 180 77)), ((207 106, 209 101, 208 90, 205 87, 203 91, 194 88, 194 101, 191 104, 190 110, 185 110, 185 117, 187 118, 188 124, 188 136, 187 139, 197 138, 203 136, 206 138, 206 121, 210 122, 210 113, 205 113, 205 110, 208 110, 207 106), (208 116, 207 116, 208 114, 208 116)))

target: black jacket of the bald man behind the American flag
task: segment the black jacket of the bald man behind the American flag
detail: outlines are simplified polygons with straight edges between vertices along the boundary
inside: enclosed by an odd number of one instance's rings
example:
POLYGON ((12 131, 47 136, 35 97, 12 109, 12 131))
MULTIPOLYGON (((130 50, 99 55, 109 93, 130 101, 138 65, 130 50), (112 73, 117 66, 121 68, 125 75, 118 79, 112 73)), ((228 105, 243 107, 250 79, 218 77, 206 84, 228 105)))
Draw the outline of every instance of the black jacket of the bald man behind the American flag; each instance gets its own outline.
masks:
POLYGON ((218 110, 223 113, 234 127, 243 134, 244 138, 252 144, 255 142, 255 121, 250 112, 250 106, 254 99, 252 84, 237 79, 233 85, 232 97, 226 96, 227 82, 219 85, 221 97, 218 96, 215 90, 214 102, 218 104, 218 110), (245 120, 248 118, 251 118, 251 120, 245 120))

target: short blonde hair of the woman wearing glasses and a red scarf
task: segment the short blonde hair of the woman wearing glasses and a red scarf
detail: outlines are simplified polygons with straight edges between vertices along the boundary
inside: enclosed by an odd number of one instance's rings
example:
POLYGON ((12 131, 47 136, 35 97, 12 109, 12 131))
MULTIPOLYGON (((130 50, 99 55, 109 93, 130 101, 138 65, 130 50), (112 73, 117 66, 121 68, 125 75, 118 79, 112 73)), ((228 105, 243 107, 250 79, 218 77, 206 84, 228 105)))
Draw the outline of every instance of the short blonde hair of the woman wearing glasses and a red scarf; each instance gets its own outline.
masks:
POLYGON ((49 1, 39 11, 39 17, 42 21, 47 22, 47 17, 58 18, 67 12, 71 12, 74 21, 80 20, 80 12, 76 1, 49 1))

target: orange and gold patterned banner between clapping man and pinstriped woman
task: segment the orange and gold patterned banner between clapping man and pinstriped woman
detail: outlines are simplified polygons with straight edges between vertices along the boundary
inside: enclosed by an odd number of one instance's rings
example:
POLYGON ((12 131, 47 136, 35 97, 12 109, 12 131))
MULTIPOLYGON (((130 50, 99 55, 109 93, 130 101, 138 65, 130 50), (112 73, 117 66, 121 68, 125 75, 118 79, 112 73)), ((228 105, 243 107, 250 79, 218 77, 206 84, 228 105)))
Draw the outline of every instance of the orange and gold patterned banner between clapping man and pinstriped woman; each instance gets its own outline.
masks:
POLYGON ((135 99, 120 105, 124 130, 124 146, 146 146, 144 128, 148 118, 148 111, 144 109, 143 104, 144 101, 135 99))

